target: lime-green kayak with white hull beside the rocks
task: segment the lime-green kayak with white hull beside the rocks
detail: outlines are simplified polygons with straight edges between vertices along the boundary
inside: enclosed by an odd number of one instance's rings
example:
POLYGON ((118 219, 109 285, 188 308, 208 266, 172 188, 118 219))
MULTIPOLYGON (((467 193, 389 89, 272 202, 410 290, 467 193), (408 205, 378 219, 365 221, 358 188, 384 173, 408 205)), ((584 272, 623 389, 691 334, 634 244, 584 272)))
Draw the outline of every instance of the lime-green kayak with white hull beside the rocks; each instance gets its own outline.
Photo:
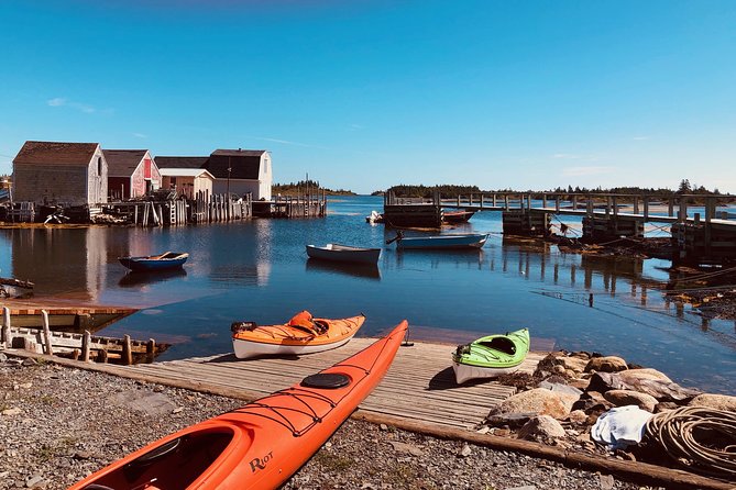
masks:
POLYGON ((529 331, 488 335, 459 345, 452 354, 452 369, 458 385, 470 379, 495 378, 518 370, 529 353, 529 331))

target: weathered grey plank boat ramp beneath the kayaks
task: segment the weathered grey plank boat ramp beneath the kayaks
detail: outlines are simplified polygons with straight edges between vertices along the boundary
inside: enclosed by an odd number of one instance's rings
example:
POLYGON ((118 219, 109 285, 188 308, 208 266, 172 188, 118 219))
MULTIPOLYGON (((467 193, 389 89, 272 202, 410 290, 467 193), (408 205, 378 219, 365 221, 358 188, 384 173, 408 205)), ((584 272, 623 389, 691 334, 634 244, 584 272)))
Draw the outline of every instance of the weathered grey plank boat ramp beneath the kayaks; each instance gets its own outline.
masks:
MULTIPOLYGON (((165 383, 187 381, 202 388, 238 389, 254 398, 299 382, 304 377, 351 356, 374 338, 353 338, 347 345, 294 358, 238 359, 233 354, 195 357, 120 367, 127 375, 138 374, 165 383)), ((381 385, 361 403, 367 412, 399 416, 446 426, 472 428, 488 410, 516 392, 494 381, 458 386, 452 371, 454 345, 415 342, 400 347, 381 385)), ((529 353, 520 370, 532 372, 545 356, 529 353)))

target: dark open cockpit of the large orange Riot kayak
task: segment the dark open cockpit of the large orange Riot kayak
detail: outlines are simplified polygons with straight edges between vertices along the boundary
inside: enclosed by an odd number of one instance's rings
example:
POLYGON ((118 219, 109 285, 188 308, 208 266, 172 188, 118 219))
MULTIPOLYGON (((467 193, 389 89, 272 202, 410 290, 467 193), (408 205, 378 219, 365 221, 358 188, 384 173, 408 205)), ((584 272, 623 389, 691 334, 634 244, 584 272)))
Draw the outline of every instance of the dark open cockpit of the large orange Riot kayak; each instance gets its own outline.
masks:
POLYGON ((222 455, 233 436, 228 427, 184 434, 112 468, 84 490, 187 488, 222 455))

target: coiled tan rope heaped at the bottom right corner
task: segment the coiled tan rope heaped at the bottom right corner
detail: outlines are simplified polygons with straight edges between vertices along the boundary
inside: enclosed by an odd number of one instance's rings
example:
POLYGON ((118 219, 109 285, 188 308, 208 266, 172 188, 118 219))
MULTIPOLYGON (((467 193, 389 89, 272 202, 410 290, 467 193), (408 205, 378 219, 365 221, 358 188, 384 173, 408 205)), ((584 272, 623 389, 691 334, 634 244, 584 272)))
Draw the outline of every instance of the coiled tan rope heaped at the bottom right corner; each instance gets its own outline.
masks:
POLYGON ((736 477, 736 412, 682 407, 653 415, 646 430, 681 465, 717 478, 736 477))

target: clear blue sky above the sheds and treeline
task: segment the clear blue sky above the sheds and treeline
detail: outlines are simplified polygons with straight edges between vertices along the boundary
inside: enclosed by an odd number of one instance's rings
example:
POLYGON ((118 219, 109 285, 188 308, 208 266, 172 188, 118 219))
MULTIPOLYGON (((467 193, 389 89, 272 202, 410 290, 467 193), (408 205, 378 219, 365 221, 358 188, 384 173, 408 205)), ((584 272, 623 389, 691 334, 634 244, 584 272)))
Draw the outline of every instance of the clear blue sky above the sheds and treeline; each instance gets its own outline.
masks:
POLYGON ((47 140, 361 193, 736 193, 734 0, 1 0, 0 46, 0 172, 47 140))

